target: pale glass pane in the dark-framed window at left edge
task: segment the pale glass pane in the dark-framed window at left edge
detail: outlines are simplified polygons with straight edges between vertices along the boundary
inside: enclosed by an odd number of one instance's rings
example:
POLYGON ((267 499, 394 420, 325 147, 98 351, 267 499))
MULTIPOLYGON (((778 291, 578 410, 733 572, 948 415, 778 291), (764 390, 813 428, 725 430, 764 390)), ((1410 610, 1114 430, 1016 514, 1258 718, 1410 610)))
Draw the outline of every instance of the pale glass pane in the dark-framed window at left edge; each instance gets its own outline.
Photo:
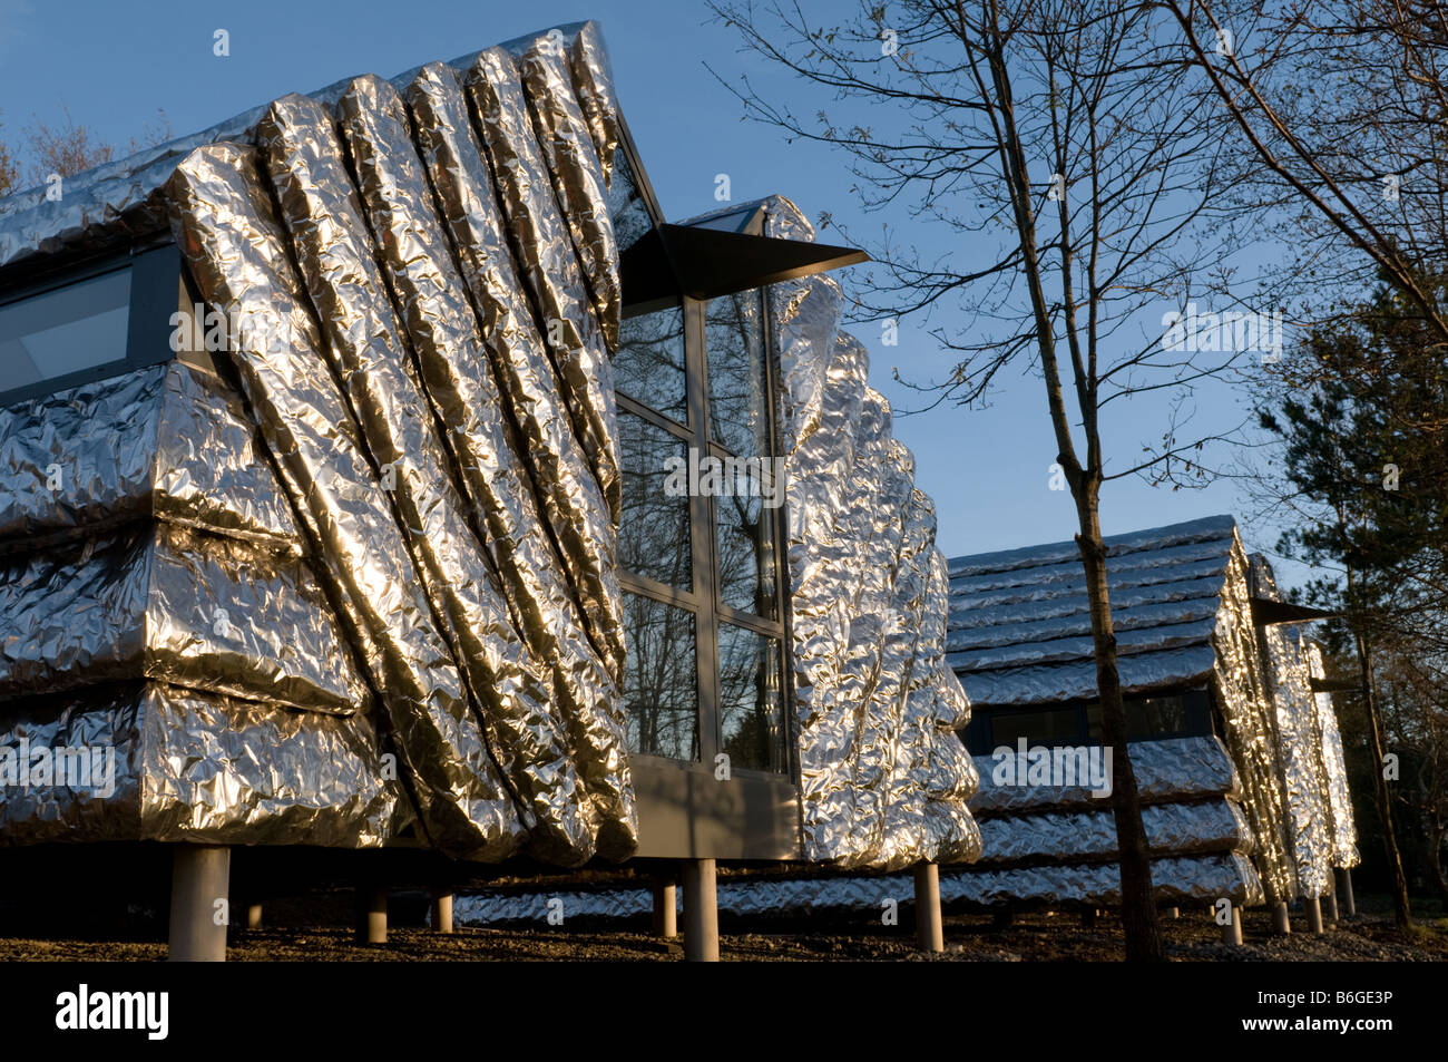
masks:
POLYGON ((0 390, 126 356, 130 269, 0 306, 0 390))

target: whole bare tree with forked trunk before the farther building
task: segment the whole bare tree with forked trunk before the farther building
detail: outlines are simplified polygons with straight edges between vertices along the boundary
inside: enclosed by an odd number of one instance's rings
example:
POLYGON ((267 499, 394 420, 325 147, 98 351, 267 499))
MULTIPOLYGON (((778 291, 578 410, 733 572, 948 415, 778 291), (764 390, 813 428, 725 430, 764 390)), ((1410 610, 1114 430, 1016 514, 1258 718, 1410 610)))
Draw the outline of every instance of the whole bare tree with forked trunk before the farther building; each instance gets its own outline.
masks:
POLYGON ((1197 388, 1231 374, 1245 351, 1222 349, 1216 335, 1174 345, 1160 330, 1163 310, 1229 287, 1245 217, 1225 180, 1226 114, 1170 39, 1171 16, 1151 3, 906 0, 862 6, 838 26, 811 22, 798 3, 714 9, 747 49, 834 97, 801 119, 744 78, 733 91, 746 114, 840 149, 867 212, 895 212, 934 241, 901 245, 889 229, 863 241, 880 262, 866 277, 866 313, 966 312, 964 327, 931 327, 954 358, 948 378, 915 385, 934 388, 934 401, 975 404, 1014 364, 1044 384, 1114 753, 1127 955, 1161 959, 1100 491, 1131 475, 1205 482, 1206 448, 1239 427, 1190 423, 1197 388), (833 119, 843 103, 869 125, 833 119), (1103 419, 1140 419, 1134 400, 1161 411, 1160 430, 1111 461, 1103 419))

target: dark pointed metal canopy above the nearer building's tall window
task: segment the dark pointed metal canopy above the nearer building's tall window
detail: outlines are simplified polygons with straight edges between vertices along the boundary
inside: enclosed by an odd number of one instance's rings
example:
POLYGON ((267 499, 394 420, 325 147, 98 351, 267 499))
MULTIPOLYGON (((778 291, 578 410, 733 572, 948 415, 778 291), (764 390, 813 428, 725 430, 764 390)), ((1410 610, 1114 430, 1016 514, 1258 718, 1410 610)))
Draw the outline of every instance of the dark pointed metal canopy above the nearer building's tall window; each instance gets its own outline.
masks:
POLYGON ((715 298, 812 272, 869 261, 856 248, 750 236, 689 225, 660 225, 620 256, 624 306, 631 313, 715 298))

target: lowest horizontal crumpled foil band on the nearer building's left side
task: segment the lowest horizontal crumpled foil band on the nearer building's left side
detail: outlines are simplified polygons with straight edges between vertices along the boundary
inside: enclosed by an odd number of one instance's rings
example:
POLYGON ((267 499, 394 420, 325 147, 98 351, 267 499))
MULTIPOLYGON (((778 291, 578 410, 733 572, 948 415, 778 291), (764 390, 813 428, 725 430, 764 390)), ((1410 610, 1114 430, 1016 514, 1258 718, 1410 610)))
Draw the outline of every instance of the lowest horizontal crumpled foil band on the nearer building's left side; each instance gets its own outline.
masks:
POLYGON ((0 845, 374 848, 408 820, 363 713, 110 684, 0 703, 0 748, 29 768, 7 779, 0 845))

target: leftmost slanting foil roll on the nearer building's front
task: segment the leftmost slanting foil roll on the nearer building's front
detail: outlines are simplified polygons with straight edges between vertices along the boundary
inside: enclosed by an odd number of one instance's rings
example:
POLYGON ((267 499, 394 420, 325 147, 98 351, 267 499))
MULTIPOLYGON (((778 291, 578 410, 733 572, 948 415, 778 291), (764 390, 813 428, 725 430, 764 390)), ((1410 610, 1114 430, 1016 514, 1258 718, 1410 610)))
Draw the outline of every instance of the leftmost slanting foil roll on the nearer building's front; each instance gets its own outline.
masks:
POLYGON ((203 298, 243 323, 232 354, 242 388, 378 693, 427 840, 459 858, 505 858, 523 826, 327 368, 256 152, 198 148, 167 194, 203 298))

